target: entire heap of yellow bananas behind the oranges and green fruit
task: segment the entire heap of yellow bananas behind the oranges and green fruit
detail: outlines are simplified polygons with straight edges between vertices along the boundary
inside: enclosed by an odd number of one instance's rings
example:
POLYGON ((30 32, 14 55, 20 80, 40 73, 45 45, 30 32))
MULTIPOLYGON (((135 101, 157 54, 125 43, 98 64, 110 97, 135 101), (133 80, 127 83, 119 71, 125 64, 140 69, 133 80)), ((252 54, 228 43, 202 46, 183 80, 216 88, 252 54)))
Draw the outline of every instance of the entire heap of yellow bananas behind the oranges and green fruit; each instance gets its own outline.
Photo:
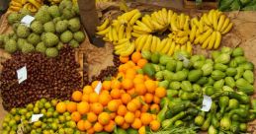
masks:
POLYGON ((190 19, 185 14, 178 15, 172 10, 155 11, 144 15, 131 10, 116 20, 106 19, 97 28, 98 35, 106 41, 113 42, 118 55, 129 55, 132 50, 150 50, 171 56, 174 51, 186 50, 192 53, 192 44, 203 44, 203 48, 216 49, 221 41, 221 34, 232 28, 229 19, 217 10, 205 13, 201 20, 190 19), (160 39, 155 33, 171 33, 160 39), (211 41, 210 41, 211 40, 211 41))

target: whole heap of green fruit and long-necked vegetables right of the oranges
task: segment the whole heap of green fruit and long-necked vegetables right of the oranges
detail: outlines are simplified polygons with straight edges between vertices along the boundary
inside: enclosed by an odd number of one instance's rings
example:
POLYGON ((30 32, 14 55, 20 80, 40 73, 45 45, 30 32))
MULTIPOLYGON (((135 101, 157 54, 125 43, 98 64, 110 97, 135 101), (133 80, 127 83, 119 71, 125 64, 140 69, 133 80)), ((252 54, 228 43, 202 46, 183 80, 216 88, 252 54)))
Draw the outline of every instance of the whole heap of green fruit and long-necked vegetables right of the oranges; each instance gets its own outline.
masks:
POLYGON ((256 118, 255 102, 251 104, 249 97, 254 93, 254 65, 240 47, 222 47, 213 51, 212 58, 184 51, 173 57, 149 51, 142 55, 151 62, 144 73, 168 89, 169 102, 163 101, 160 111, 164 129, 195 124, 209 134, 240 133, 246 132, 246 122, 256 118), (203 96, 213 100, 210 111, 201 109, 203 96))

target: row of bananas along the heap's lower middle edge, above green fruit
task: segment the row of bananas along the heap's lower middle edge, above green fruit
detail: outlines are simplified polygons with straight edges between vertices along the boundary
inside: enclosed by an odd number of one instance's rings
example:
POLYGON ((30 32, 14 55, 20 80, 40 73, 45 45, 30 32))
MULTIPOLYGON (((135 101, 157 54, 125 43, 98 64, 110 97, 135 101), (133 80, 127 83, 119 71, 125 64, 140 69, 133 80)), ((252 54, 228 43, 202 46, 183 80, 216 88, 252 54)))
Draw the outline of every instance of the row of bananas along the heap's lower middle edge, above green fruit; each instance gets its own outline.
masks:
POLYGON ((161 40, 158 36, 152 34, 143 34, 137 37, 134 44, 137 51, 150 50, 151 52, 160 52, 169 56, 179 50, 186 50, 192 53, 192 44, 190 41, 181 45, 176 43, 171 37, 166 37, 161 40))

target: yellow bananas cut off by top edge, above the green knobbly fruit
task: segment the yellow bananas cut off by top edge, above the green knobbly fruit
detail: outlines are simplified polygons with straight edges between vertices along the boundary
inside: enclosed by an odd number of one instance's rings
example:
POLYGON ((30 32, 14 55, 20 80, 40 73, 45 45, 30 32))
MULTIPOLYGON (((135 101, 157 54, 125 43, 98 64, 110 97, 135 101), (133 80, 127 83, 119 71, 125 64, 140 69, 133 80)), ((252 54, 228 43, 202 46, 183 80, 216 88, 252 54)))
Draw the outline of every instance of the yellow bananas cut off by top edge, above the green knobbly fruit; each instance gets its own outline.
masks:
POLYGON ((19 12, 21 9, 27 9, 36 13, 43 5, 43 0, 11 0, 9 11, 19 12))

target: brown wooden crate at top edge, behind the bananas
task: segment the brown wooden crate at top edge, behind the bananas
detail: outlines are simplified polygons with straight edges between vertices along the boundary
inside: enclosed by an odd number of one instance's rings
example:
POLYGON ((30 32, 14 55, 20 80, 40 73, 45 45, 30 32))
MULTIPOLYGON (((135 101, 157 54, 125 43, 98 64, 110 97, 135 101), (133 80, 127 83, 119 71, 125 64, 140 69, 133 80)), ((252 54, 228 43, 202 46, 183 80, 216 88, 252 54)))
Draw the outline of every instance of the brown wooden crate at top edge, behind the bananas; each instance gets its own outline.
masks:
POLYGON ((208 0, 204 1, 202 0, 202 5, 197 7, 196 6, 196 0, 183 0, 184 2, 184 8, 188 9, 216 9, 218 0, 208 0))

